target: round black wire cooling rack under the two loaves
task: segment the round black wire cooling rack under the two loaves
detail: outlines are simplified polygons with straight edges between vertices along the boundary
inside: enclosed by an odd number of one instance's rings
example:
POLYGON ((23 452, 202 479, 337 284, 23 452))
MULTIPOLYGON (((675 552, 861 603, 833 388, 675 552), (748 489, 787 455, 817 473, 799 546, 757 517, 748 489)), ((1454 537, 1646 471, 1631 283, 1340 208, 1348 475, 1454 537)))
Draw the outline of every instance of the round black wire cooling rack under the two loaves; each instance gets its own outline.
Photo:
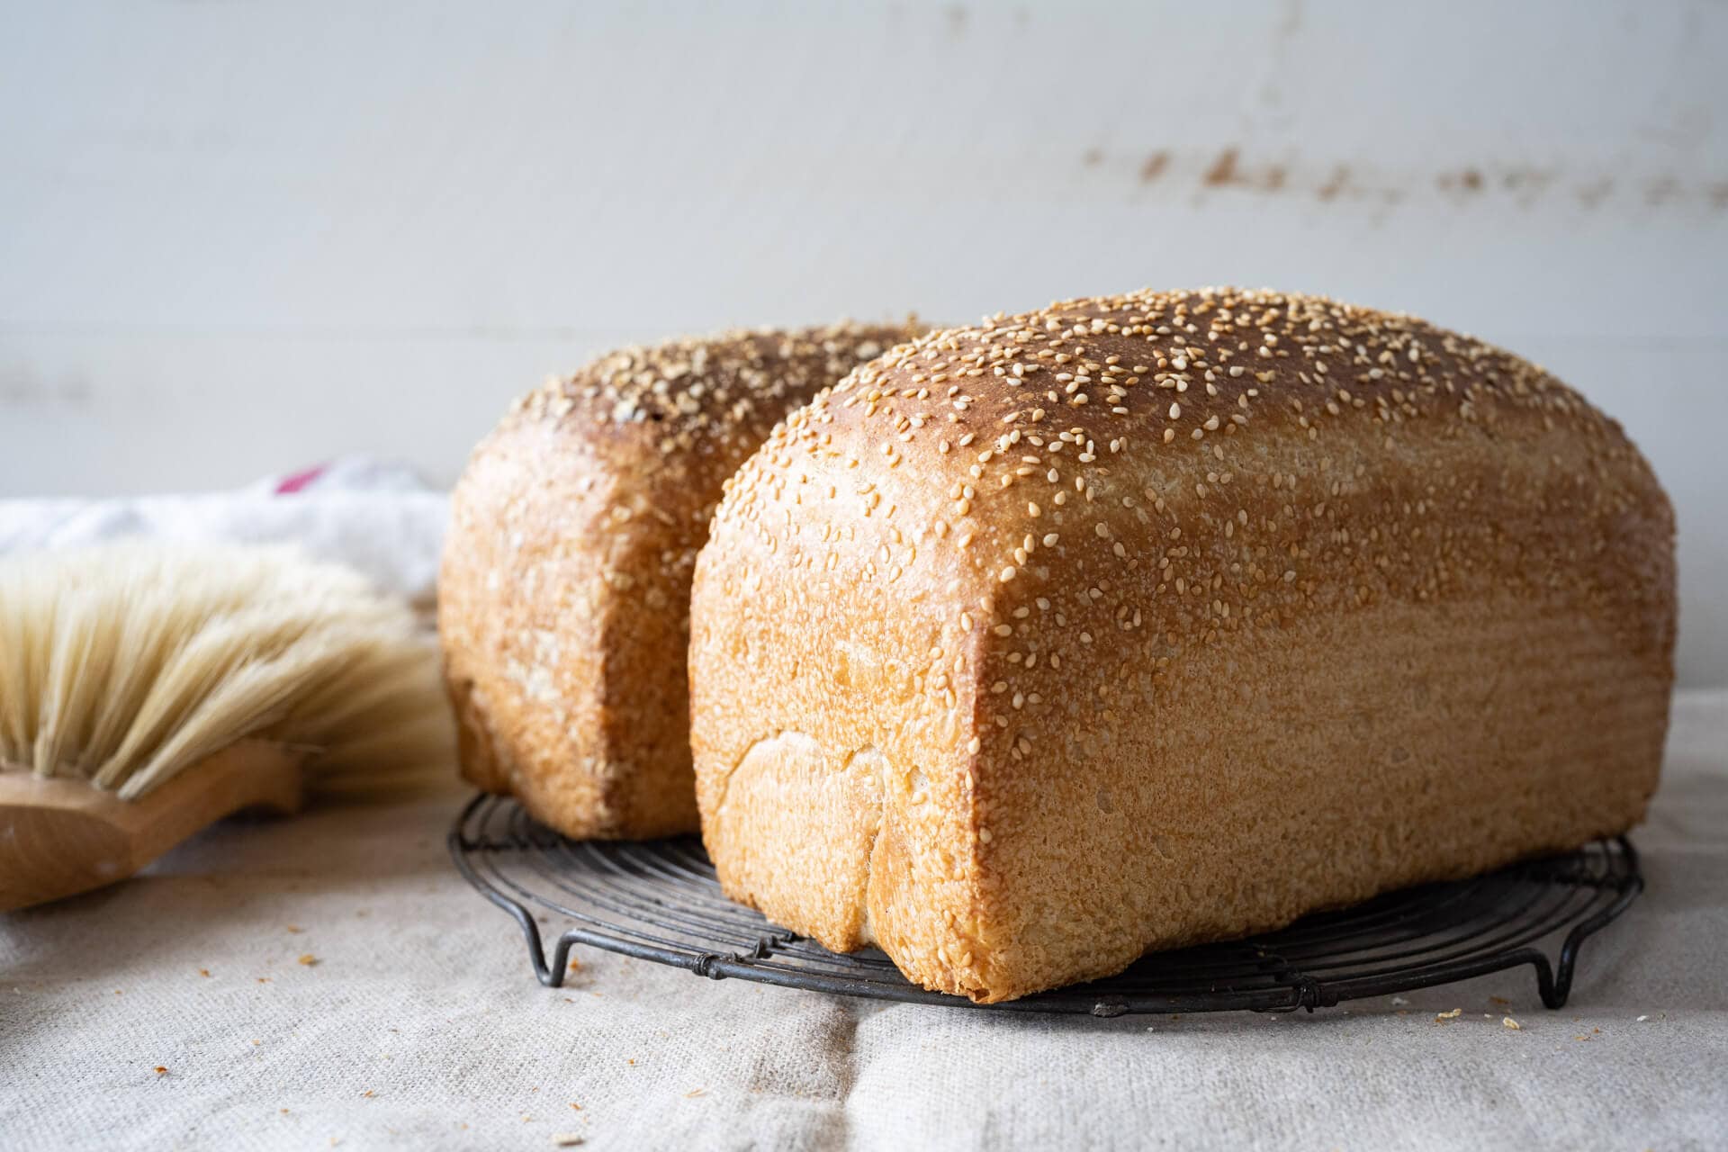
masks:
POLYGON ((1531 965, 1541 1002, 1566 1003, 1578 948, 1643 891, 1626 838, 1500 872, 1424 884, 1289 927, 1142 957, 1118 976, 1006 1003, 926 991, 874 948, 850 955, 776 927, 721 895, 702 841, 572 841, 511 800, 475 796, 449 832, 461 874, 515 917, 534 974, 558 986, 574 945, 670 964, 710 979, 753 979, 848 997, 1007 1012, 1289 1012, 1531 965), (536 922, 562 929, 551 964, 536 922), (1562 938, 1564 933, 1564 938, 1562 938), (1550 962, 1541 948, 1559 940, 1550 962))

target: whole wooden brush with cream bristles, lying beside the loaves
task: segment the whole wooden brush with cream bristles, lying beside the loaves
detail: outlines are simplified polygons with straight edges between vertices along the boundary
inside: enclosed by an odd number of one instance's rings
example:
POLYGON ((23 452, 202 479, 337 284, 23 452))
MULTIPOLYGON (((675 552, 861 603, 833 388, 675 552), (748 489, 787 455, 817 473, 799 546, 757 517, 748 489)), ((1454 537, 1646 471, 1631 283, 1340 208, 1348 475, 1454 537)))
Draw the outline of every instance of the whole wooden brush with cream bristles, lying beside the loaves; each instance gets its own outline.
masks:
POLYGON ((0 910, 131 876, 240 808, 449 763, 435 644, 287 548, 0 560, 0 910))

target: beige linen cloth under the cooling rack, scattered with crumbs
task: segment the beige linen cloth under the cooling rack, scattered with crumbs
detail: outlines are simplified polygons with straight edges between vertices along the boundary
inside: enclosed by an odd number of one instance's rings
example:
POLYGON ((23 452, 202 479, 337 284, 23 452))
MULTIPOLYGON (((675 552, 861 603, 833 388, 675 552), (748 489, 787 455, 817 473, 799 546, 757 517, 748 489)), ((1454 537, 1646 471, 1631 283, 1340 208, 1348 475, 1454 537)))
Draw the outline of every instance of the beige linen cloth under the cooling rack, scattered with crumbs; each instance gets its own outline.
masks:
POLYGON ((1560 1012, 1528 969, 1284 1017, 881 1005, 591 950, 548 990, 449 864, 463 798, 230 822, 0 915, 0 1145, 1728 1145, 1728 693, 1676 698, 1649 893, 1560 1012))

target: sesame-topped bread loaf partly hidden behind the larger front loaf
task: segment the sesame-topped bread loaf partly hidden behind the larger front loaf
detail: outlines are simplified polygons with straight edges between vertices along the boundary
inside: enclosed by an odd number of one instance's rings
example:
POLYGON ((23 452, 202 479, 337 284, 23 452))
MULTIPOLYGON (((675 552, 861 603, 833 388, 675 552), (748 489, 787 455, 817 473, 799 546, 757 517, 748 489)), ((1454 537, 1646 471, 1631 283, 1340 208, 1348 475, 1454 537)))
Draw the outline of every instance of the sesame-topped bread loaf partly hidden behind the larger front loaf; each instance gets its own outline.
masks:
POLYGON ((461 769, 570 836, 696 827, 689 577, 721 484, 904 326, 603 356, 518 401, 456 485, 439 580, 461 769))

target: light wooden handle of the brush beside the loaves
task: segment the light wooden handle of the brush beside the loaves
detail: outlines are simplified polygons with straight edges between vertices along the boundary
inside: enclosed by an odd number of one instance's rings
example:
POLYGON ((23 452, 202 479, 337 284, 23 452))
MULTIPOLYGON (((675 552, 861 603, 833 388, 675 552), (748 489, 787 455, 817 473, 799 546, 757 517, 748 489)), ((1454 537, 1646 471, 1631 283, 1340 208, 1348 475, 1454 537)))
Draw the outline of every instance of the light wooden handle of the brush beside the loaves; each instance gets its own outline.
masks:
POLYGON ((299 755, 242 741, 135 801, 85 781, 0 772, 0 910, 126 879, 192 832, 254 807, 299 810, 299 755))

